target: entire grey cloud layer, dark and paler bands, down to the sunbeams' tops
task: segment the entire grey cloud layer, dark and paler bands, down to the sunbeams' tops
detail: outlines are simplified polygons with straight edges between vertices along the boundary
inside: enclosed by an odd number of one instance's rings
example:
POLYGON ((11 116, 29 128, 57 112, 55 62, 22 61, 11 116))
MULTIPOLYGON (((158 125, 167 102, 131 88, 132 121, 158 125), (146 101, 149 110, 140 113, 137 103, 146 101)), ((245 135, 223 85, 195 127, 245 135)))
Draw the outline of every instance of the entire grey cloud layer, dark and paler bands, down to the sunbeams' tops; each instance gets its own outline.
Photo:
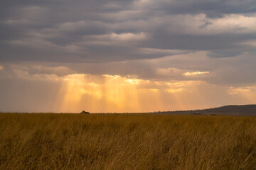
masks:
POLYGON ((256 82, 256 1, 14 0, 2 4, 0 65, 4 71, 10 63, 31 62, 36 67, 29 67, 29 74, 137 75, 225 86, 256 82), (183 75, 197 71, 210 73, 183 75))

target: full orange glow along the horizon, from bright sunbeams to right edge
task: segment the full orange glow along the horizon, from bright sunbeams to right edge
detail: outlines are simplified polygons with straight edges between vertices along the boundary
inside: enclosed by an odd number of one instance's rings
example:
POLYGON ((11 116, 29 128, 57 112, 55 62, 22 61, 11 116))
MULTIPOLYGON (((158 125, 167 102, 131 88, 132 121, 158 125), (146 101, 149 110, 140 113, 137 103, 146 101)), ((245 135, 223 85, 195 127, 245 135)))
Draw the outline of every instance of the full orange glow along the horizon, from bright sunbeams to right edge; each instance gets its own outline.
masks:
MULTIPOLYGON (((82 110, 124 113, 206 108, 208 101, 212 100, 206 93, 209 93, 208 89, 216 88, 203 81, 149 81, 109 74, 69 74, 58 81, 63 84, 58 97, 60 111, 69 113, 82 110)), ((256 101, 253 96, 256 88, 218 91, 226 91, 227 97, 236 95, 245 101, 256 101)))

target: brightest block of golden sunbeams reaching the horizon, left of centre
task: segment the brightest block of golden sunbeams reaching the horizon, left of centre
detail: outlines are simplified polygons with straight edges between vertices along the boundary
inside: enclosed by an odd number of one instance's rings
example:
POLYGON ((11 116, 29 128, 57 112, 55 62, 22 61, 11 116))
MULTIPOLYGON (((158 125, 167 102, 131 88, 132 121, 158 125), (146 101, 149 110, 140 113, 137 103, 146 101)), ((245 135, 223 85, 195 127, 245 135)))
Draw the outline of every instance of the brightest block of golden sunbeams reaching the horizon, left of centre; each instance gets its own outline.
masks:
POLYGON ((137 85, 141 80, 127 79, 118 75, 95 77, 88 77, 87 74, 70 74, 63 77, 63 87, 60 89, 60 93, 64 94, 63 111, 78 112, 82 109, 95 112, 140 111, 137 85), (97 84, 95 77, 105 81, 97 84))

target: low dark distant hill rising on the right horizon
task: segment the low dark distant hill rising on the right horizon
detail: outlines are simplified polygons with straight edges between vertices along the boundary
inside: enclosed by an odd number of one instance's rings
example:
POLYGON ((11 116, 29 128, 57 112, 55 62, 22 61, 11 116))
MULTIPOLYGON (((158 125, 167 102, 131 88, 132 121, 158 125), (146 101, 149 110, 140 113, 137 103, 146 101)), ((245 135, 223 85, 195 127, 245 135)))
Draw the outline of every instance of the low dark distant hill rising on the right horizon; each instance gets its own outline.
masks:
POLYGON ((256 115, 256 105, 230 105, 218 108, 207 108, 191 111, 166 111, 160 114, 191 114, 191 115, 256 115))

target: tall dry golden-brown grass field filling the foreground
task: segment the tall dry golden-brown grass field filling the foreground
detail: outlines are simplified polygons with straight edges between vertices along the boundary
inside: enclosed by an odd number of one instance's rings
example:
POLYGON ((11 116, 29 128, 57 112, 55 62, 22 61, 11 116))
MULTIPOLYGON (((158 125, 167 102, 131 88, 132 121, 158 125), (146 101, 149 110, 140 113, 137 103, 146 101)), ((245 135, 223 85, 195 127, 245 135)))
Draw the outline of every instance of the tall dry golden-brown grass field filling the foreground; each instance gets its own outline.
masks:
POLYGON ((0 114, 0 169, 256 169, 256 117, 0 114))

